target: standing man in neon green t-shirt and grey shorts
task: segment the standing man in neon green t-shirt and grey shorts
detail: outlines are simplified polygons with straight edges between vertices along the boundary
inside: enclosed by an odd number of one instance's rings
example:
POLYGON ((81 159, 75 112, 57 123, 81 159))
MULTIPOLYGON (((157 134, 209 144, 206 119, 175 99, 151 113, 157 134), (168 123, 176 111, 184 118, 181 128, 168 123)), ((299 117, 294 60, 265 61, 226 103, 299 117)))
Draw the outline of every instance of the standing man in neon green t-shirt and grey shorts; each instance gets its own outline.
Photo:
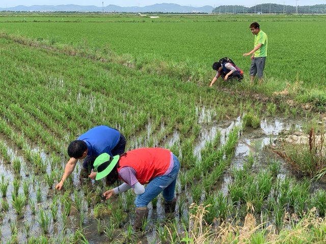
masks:
POLYGON ((257 22, 253 22, 249 27, 252 34, 255 35, 254 49, 250 52, 243 53, 243 56, 246 57, 251 55, 251 66, 249 71, 251 82, 254 81, 257 74, 259 84, 261 84, 267 56, 267 35, 261 31, 257 22))

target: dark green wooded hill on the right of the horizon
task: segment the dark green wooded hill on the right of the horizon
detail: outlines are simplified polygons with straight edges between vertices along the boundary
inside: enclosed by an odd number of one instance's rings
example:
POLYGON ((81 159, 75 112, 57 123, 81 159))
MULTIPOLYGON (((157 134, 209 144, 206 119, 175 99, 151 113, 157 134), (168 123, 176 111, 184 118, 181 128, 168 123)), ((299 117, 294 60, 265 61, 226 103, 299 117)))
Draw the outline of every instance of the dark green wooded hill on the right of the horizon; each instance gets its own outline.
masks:
POLYGON ((291 5, 283 5, 283 4, 259 4, 253 7, 243 7, 240 5, 223 5, 216 7, 213 10, 214 13, 233 13, 233 14, 241 14, 241 13, 287 13, 287 14, 324 14, 326 13, 326 4, 319 4, 313 6, 291 6, 291 5))

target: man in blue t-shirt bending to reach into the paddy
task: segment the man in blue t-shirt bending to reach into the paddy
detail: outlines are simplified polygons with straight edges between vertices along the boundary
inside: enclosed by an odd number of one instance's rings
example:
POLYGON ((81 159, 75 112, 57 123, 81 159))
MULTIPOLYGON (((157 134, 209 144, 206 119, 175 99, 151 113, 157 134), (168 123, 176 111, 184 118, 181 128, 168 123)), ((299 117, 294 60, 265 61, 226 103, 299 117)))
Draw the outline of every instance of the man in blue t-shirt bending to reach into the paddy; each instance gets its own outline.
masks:
POLYGON ((94 169, 95 159, 103 153, 107 153, 111 157, 123 154, 125 147, 126 138, 118 130, 107 126, 90 129, 69 144, 68 155, 70 159, 56 189, 62 189, 63 182, 75 169, 78 159, 84 159, 80 176, 84 178, 89 176, 94 179, 96 172, 91 173, 91 170, 94 169))

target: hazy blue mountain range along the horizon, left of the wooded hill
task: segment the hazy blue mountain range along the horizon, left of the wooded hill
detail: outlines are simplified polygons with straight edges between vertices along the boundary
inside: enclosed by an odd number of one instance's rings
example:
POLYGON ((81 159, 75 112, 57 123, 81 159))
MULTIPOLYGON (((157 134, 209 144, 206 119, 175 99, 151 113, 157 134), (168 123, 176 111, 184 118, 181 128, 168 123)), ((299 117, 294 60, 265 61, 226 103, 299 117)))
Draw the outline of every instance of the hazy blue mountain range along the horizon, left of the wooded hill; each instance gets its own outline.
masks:
POLYGON ((12 8, 0 8, 0 11, 16 11, 16 12, 161 12, 161 13, 211 13, 213 7, 189 7, 178 4, 154 4, 145 7, 120 7, 116 5, 108 5, 106 7, 96 6, 80 6, 80 5, 33 5, 30 7, 19 5, 12 8))

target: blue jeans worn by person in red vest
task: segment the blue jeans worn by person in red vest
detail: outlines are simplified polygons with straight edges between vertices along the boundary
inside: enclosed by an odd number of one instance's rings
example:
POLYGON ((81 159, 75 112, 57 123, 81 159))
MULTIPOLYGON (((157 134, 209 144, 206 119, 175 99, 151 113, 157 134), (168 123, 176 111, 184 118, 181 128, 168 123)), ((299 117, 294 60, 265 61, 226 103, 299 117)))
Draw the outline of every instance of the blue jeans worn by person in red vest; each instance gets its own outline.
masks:
POLYGON ((180 169, 178 158, 173 155, 173 168, 169 174, 159 175, 153 178, 142 195, 136 197, 136 207, 147 207, 158 194, 163 192, 163 197, 166 201, 172 201, 174 198, 175 185, 180 169))

